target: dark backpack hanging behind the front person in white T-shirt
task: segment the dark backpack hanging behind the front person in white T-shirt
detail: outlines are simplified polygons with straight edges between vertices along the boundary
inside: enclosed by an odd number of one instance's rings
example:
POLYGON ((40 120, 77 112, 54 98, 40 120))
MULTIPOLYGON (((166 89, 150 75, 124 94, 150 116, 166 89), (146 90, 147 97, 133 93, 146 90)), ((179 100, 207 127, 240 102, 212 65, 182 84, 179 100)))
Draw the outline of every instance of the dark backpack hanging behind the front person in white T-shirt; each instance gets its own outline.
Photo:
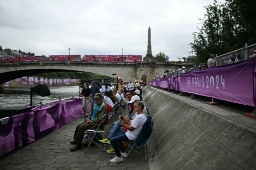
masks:
POLYGON ((153 120, 150 115, 146 116, 146 121, 135 139, 135 147, 139 148, 146 143, 153 131, 153 120))

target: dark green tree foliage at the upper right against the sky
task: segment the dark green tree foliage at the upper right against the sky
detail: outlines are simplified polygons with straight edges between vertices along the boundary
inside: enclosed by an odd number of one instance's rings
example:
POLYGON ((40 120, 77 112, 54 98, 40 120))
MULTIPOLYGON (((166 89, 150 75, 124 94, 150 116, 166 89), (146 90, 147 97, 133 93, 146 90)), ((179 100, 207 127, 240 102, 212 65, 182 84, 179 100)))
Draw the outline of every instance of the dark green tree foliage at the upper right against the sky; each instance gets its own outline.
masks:
POLYGON ((200 61, 205 62, 210 54, 224 54, 241 48, 244 43, 256 43, 256 1, 217 0, 205 6, 206 13, 200 20, 198 32, 192 33, 192 50, 200 61))

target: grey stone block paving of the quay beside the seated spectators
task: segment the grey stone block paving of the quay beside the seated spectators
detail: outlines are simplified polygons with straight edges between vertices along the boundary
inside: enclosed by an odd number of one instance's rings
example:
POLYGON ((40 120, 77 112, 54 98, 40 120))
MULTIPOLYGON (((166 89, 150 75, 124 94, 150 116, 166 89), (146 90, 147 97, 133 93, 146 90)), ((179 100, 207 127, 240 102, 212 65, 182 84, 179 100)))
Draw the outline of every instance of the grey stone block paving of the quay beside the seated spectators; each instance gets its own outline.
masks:
MULTIPOLYGON (((125 164, 110 163, 114 154, 106 154, 97 146, 70 152, 76 125, 84 118, 74 120, 51 134, 27 146, 0 157, 0 170, 148 170, 149 164, 131 152, 125 164)), ((109 149, 110 145, 106 149, 109 149)))

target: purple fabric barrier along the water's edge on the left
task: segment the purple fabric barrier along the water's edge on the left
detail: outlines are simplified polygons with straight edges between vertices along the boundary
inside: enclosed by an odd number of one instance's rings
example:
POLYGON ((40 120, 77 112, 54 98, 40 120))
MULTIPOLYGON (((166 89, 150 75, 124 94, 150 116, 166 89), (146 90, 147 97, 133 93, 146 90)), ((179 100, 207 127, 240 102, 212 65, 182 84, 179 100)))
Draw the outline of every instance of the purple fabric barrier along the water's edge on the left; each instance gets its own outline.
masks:
POLYGON ((40 139, 82 115, 82 99, 74 99, 9 117, 6 124, 0 123, 0 156, 40 139))

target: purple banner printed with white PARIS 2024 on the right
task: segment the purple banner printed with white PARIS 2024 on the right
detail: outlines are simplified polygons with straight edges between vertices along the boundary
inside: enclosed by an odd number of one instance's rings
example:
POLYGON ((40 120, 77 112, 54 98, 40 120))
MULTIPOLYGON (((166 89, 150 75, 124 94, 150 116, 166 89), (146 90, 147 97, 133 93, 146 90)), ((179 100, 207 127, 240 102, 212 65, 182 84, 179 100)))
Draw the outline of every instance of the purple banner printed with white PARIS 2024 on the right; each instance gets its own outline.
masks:
POLYGON ((255 103, 256 59, 180 75, 180 91, 248 106, 255 103))

